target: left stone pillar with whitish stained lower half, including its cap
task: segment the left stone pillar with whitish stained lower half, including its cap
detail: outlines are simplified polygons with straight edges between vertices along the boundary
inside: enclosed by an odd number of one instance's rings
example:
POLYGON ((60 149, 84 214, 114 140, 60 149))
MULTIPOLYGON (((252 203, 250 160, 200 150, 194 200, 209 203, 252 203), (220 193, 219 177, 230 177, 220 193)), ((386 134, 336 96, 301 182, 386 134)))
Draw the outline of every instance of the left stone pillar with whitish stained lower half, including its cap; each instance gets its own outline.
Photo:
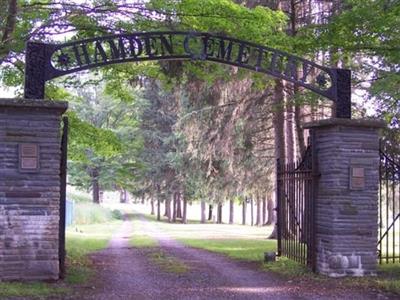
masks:
POLYGON ((0 99, 0 281, 59 277, 66 102, 0 99))

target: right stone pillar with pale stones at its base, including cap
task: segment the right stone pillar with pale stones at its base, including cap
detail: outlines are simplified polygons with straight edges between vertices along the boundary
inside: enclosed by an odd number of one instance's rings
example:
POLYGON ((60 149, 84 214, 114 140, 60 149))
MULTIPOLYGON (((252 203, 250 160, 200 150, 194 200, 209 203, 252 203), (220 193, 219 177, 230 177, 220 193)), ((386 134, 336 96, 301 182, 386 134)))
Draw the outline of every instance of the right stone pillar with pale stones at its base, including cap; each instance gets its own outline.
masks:
POLYGON ((331 277, 375 275, 379 128, 376 120, 306 124, 320 174, 316 187, 316 270, 331 277))

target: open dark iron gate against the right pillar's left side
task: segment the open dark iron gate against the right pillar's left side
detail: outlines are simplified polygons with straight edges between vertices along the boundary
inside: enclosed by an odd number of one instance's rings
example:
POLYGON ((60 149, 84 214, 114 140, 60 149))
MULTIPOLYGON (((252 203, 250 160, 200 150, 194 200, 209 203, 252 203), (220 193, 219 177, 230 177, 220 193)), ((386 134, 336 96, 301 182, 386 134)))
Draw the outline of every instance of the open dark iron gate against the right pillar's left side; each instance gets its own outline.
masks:
POLYGON ((286 256, 315 271, 315 163, 309 145, 302 160, 277 161, 278 256, 286 256))

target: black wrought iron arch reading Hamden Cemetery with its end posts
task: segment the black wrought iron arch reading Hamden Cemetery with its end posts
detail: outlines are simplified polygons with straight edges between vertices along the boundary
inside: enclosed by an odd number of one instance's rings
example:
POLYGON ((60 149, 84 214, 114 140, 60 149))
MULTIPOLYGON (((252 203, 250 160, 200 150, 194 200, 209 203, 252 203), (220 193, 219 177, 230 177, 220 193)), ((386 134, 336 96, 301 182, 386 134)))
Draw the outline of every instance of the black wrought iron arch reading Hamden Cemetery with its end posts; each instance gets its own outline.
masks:
POLYGON ((350 70, 324 67, 284 51, 206 32, 137 32, 64 44, 28 42, 25 98, 43 99, 46 81, 59 76, 148 60, 207 60, 265 73, 334 101, 336 117, 351 117, 350 70))

